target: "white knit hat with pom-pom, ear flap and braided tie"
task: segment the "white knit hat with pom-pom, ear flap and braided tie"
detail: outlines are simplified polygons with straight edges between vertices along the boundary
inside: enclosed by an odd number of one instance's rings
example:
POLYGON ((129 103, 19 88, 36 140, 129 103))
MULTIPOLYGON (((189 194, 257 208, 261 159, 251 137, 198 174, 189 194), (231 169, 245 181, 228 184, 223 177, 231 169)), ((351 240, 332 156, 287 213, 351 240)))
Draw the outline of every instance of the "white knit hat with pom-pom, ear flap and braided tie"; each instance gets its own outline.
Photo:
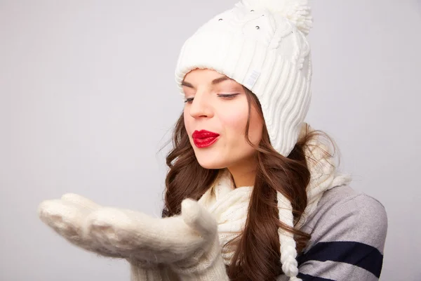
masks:
MULTIPOLYGON (((298 141, 311 100, 312 63, 306 39, 312 27, 307 0, 241 0, 202 25, 182 46, 175 70, 180 92, 196 68, 225 74, 255 93, 273 148, 288 156, 298 141)), ((278 194, 279 217, 293 226, 292 207, 278 194)), ((279 230, 281 262, 298 280, 292 235, 279 230)))

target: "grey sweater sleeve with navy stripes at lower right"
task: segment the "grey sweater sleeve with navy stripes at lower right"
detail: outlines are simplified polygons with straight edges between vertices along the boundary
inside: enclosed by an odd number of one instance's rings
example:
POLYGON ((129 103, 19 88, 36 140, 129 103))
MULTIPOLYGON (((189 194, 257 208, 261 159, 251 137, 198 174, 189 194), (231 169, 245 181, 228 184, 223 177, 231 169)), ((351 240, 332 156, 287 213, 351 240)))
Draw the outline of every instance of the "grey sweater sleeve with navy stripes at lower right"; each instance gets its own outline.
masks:
POLYGON ((387 235, 382 204, 358 194, 321 208, 312 239, 298 256, 298 277, 303 281, 377 281, 387 235))

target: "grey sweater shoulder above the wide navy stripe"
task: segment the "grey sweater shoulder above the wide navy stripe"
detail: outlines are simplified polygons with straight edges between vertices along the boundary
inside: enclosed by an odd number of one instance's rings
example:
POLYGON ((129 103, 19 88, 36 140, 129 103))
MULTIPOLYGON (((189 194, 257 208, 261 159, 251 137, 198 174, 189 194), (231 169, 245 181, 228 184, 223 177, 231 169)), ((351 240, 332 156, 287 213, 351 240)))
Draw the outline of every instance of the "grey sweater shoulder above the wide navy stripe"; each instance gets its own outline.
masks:
POLYGON ((326 191, 316 210, 307 219, 312 243, 354 241, 383 251, 387 235, 387 213, 375 198, 349 185, 326 191))

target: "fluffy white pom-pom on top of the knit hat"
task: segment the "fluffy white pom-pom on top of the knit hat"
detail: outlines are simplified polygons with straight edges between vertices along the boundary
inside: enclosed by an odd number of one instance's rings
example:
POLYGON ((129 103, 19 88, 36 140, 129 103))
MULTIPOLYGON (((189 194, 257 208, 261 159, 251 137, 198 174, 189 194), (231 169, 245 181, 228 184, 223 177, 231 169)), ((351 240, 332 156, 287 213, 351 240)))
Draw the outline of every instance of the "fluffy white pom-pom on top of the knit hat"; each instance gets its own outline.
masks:
POLYGON ((312 8, 307 0, 241 0, 240 4, 266 8, 272 13, 288 18, 303 34, 309 34, 313 26, 312 8))

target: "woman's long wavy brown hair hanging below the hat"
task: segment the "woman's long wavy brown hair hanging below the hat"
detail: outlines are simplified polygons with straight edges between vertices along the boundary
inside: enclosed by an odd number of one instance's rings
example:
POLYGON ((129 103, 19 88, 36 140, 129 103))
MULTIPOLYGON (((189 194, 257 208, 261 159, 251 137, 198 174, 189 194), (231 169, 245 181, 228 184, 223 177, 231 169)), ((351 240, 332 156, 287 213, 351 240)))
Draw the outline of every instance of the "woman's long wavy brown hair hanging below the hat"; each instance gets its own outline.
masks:
MULTIPOLYGON (((311 237, 308 233, 289 228, 279 221, 276 192, 281 192, 290 200, 294 224, 298 223, 307 207, 306 188, 310 181, 305 146, 309 145, 310 139, 324 136, 333 144, 333 153, 326 151, 326 154, 333 157, 336 145, 327 133, 310 131, 308 124, 306 133, 300 137, 288 157, 280 155, 272 148, 265 124, 262 140, 258 146, 253 145, 248 138, 250 107, 255 106, 260 117, 263 120, 264 118, 258 98, 248 89, 244 89, 248 99, 245 135, 248 143, 256 150, 258 166, 246 226, 241 235, 227 243, 236 245, 232 263, 227 266, 227 274, 233 281, 275 280, 282 273, 278 228, 293 233, 299 254, 311 237)), ((169 171, 164 190, 163 217, 180 214, 181 202, 185 198, 199 200, 213 185, 220 172, 218 169, 205 169, 197 162, 187 136, 183 114, 175 124, 173 149, 168 152, 166 164, 169 171)))

